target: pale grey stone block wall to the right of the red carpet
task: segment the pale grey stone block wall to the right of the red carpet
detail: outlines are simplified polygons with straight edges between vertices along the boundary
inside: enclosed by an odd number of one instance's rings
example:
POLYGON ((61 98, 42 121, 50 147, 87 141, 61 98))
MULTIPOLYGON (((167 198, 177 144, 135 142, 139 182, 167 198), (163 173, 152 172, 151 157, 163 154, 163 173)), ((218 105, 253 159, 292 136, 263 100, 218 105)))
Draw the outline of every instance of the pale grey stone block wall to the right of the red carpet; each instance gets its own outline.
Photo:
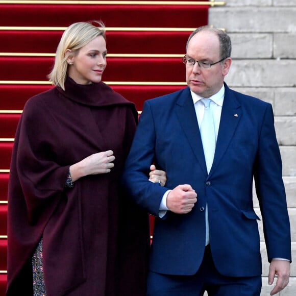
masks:
MULTIPOLYGON (((232 38, 233 63, 225 81, 240 92, 273 105, 283 161, 291 224, 292 260, 296 259, 296 0, 226 0, 209 10, 209 24, 232 38)), ((255 211, 260 216, 254 192, 255 211)), ((262 296, 269 295, 269 264, 259 222, 263 264, 262 296)), ((296 264, 280 296, 296 294, 296 264)))

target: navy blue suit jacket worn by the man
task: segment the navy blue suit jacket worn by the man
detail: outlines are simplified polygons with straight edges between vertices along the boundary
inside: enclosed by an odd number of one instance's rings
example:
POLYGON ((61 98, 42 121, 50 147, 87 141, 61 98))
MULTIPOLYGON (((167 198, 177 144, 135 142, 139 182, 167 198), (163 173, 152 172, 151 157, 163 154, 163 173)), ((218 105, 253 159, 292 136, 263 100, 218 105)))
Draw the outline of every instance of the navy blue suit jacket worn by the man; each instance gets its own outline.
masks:
POLYGON ((133 200, 158 216, 164 192, 190 184, 198 202, 188 214, 167 212, 155 221, 150 270, 193 275, 205 250, 205 208, 213 260, 226 276, 261 274, 253 209, 253 177, 262 213, 268 260, 291 260, 290 225, 272 106, 225 84, 215 157, 209 175, 190 89, 145 102, 122 183, 133 200), (155 161, 165 187, 147 181, 155 161))

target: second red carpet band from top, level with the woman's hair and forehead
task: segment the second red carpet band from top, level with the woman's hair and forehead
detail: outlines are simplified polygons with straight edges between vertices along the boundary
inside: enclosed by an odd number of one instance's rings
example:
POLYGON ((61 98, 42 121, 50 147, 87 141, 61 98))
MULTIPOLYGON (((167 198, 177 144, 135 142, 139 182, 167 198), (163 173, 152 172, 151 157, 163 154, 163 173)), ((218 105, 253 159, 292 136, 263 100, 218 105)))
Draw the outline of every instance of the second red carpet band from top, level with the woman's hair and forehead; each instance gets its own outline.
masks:
MULTIPOLYGON (((1 51, 7 53, 55 53, 63 31, 0 31, 1 51), (15 46, 17 40, 21 46, 15 46)), ((108 53, 185 54, 190 32, 107 31, 108 53), (165 40, 165 46, 161 46, 165 40)))

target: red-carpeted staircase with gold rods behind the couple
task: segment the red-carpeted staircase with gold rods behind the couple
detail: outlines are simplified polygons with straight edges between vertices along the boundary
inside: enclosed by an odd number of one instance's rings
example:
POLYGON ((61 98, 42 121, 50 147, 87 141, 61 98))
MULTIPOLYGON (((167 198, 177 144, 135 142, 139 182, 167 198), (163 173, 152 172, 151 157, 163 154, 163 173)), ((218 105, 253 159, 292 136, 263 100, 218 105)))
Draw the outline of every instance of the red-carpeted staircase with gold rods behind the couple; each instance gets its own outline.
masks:
MULTIPOLYGON (((14 133, 24 103, 52 86, 46 76, 63 30, 77 21, 107 27, 103 81, 140 111, 148 98, 185 86, 186 40, 223 2, 0 0, 0 296, 6 289, 7 191, 14 133)), ((153 220, 151 221, 153 224, 153 220)))

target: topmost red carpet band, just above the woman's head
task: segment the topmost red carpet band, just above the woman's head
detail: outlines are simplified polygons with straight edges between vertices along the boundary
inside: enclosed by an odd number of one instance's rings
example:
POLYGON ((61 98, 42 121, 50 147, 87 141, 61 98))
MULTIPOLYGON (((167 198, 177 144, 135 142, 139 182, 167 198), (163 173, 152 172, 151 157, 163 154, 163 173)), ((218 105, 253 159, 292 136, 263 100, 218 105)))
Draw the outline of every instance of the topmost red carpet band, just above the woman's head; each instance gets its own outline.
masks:
POLYGON ((78 6, 4 4, 0 10, 0 26, 67 27, 77 21, 101 19, 107 27, 196 28, 208 22, 208 6, 78 6))

